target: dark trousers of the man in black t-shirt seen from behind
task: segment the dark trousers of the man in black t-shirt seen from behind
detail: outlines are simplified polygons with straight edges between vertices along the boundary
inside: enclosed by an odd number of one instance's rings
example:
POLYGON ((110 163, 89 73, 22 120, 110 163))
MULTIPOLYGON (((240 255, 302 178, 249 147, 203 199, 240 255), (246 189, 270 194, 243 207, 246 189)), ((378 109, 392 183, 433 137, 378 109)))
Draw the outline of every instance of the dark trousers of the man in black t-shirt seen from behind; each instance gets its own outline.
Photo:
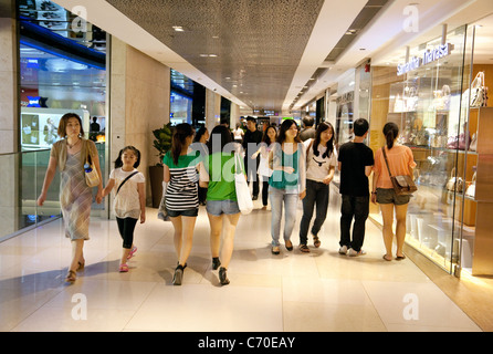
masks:
POLYGON ((346 246, 356 252, 361 250, 365 240, 365 222, 369 214, 369 196, 353 197, 343 195, 340 206, 340 242, 339 246, 346 246), (350 225, 353 226, 353 241, 350 239, 350 225))

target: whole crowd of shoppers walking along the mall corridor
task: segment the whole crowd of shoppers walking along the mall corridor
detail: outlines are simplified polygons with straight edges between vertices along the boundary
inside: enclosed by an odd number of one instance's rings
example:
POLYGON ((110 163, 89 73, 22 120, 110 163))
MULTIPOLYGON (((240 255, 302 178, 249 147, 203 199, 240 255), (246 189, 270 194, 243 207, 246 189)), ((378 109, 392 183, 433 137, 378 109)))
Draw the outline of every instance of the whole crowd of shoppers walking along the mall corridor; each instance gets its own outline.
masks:
MULTIPOLYGON (((394 237, 397 240, 395 259, 406 258, 402 247, 410 196, 396 195, 385 166, 387 163, 395 175, 409 176, 412 176, 416 167, 410 148, 397 143, 398 126, 394 123, 384 126, 386 145, 376 150, 374 158, 374 152, 365 144, 369 128, 366 119, 354 122, 354 139, 340 146, 336 146, 332 124, 322 122, 314 128, 313 118, 310 117, 305 117, 303 124, 304 129, 301 132, 294 119, 284 119, 279 131, 276 126, 268 125, 262 133, 258 129, 255 118, 248 117, 246 129, 237 125, 233 133, 224 124, 216 126, 210 134, 206 127, 195 132, 186 123, 174 127, 171 148, 162 164, 164 181, 167 184, 164 200, 175 230, 175 285, 180 285, 183 280, 199 205, 206 205, 210 223, 211 267, 213 270, 219 269, 220 284, 229 284, 227 271, 241 215, 234 177, 239 170, 240 174, 243 171, 246 181, 252 181, 253 200, 260 192, 259 176, 262 178, 262 209, 266 210, 269 202, 271 206, 273 254, 281 253, 281 229, 285 249, 293 251, 291 237, 300 201, 303 204, 300 251, 310 252, 308 230, 313 246, 321 247, 319 231, 327 215, 329 185, 337 168, 340 173, 342 195, 339 253, 350 257, 366 253, 363 243, 371 201, 380 206, 384 218, 384 260, 394 259, 394 237), (314 212, 315 219, 310 228, 314 212), (397 220, 395 235, 394 217, 397 220)), ((81 117, 73 113, 65 114, 60 121, 57 134, 61 139, 53 144, 38 205, 42 206, 45 201, 59 168, 65 235, 72 241, 72 261, 65 280, 74 282, 77 270, 85 263, 83 246, 90 239, 88 222, 93 201, 92 187, 85 176, 87 159, 92 160, 99 177, 96 202, 99 204, 105 196, 115 192, 113 208, 123 239, 119 271, 127 272, 127 260, 137 251, 134 244, 135 227, 139 219, 140 223, 146 220, 145 177, 137 170, 140 152, 134 146, 123 148, 107 186, 103 188, 97 150, 92 140, 84 138, 81 117)))

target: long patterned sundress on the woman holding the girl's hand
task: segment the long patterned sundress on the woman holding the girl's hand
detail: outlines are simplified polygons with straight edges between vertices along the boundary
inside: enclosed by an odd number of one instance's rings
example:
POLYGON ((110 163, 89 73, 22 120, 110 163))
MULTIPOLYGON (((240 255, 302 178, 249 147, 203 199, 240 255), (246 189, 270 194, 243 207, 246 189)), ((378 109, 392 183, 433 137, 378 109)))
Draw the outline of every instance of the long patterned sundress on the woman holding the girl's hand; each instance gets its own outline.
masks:
POLYGON ((65 237, 73 240, 90 239, 90 216, 93 202, 92 189, 85 183, 81 152, 66 154, 65 168, 61 173, 60 205, 65 223, 65 237))

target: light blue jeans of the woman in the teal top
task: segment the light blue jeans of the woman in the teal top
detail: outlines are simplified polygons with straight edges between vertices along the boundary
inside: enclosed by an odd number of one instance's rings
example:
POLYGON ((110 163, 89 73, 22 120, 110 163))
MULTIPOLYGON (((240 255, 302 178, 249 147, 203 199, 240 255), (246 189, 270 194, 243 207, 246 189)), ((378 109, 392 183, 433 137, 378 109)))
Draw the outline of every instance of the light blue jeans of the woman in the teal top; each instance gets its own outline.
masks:
POLYGON ((269 188, 269 197, 271 200, 271 236, 272 246, 280 246, 279 238, 281 235, 281 219, 284 204, 284 240, 287 241, 293 232, 294 222, 296 221, 296 207, 300 200, 298 194, 286 192, 284 189, 269 188))

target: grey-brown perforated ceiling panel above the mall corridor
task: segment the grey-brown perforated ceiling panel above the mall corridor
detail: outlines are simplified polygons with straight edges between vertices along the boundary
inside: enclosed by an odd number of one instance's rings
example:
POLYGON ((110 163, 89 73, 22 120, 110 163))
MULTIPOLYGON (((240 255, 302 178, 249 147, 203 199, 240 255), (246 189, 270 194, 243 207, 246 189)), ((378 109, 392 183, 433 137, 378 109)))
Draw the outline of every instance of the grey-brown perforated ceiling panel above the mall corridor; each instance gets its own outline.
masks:
POLYGON ((323 0, 107 2, 252 108, 275 111, 281 111, 324 3, 323 0), (175 31, 177 25, 183 31, 175 31))

